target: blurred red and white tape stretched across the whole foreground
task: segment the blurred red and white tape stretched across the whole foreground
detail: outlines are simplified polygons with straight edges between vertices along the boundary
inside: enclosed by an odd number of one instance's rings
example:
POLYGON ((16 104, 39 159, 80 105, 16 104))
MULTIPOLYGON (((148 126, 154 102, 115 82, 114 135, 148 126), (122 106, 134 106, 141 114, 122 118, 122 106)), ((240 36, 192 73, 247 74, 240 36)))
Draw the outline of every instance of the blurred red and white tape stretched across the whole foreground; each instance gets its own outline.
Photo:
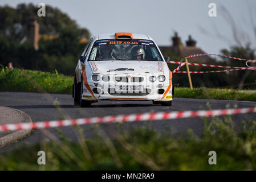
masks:
POLYGON ((105 117, 83 118, 83 119, 67 119, 67 120, 60 120, 60 121, 16 123, 16 124, 0 125, 0 131, 42 129, 42 128, 48 128, 48 127, 85 125, 90 123, 135 122, 135 121, 149 121, 149 120, 155 121, 160 119, 210 117, 210 116, 218 116, 218 115, 244 114, 244 113, 256 113, 256 107, 242 108, 242 109, 223 109, 223 110, 169 111, 169 112, 158 112, 158 113, 112 115, 112 116, 105 116, 105 117))

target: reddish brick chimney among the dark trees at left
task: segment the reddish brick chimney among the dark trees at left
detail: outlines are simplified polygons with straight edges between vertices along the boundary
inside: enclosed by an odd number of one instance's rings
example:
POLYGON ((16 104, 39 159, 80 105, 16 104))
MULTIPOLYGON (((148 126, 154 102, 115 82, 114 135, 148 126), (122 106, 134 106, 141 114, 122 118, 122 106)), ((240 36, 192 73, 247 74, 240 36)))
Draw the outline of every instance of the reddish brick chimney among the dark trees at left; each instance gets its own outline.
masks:
POLYGON ((34 48, 38 50, 39 45, 39 24, 36 17, 31 17, 29 23, 27 24, 27 39, 33 44, 34 48))

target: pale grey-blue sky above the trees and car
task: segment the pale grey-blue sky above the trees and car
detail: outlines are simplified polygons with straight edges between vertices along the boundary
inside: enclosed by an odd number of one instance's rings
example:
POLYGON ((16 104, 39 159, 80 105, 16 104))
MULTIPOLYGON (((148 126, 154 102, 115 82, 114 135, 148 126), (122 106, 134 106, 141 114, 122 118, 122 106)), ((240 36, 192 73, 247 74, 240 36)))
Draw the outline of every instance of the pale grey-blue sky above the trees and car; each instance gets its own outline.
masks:
POLYGON ((19 3, 30 2, 35 6, 42 2, 58 7, 80 27, 87 28, 92 36, 133 32, 147 34, 157 45, 168 46, 172 44, 170 37, 177 31, 182 43, 185 44, 188 35, 192 35, 197 47, 206 53, 220 53, 221 49, 237 44, 233 38, 234 27, 225 18, 228 11, 241 42, 250 41, 256 47, 253 32, 253 25, 256 25, 255 0, 0 0, 0 6, 16 7, 19 3), (208 15, 209 3, 216 3, 216 17, 208 15), (222 9, 223 6, 226 10, 222 9))

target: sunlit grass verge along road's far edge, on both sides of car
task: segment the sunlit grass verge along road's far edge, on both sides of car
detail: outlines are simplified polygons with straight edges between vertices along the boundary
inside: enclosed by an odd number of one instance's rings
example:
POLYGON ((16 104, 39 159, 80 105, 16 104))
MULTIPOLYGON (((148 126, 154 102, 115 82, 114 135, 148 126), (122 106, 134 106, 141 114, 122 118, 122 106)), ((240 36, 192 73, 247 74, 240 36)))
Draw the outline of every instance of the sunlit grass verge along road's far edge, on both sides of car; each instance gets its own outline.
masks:
MULTIPOLYGON (((41 72, 23 69, 0 71, 0 92, 47 92, 72 94, 74 77, 58 72, 41 72)), ((175 88, 174 97, 216 100, 256 101, 256 90, 218 88, 175 88)))

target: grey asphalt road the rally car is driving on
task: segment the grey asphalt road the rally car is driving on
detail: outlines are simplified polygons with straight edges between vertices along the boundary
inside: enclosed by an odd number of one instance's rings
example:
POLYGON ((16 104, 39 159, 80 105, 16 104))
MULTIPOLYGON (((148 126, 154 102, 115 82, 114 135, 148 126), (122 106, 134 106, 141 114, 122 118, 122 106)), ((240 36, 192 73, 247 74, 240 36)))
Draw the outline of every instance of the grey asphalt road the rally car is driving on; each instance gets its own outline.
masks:
MULTIPOLYGON (((90 118, 105 115, 132 114, 157 111, 183 111, 201 109, 226 109, 229 105, 233 108, 254 107, 256 102, 246 101, 221 101, 221 100, 196 100, 189 98, 174 98, 173 106, 153 105, 152 101, 99 101, 92 104, 90 108, 80 108, 73 105, 72 95, 68 94, 41 94, 41 93, 18 93, 0 92, 0 106, 13 107, 25 111, 32 118, 32 121, 51 121, 68 118, 90 118)), ((236 121, 251 121, 256 118, 256 114, 238 114, 232 116, 236 121)), ((83 125, 85 138, 92 138, 96 134, 95 125, 83 125)), ((192 129, 199 134, 204 129, 203 118, 185 118, 162 121, 128 122, 118 125, 118 123, 100 123, 99 127, 105 134, 111 137, 111 133, 120 128, 122 132, 128 131, 133 127, 151 127, 160 133, 174 134, 186 133, 192 129), (171 129, 171 130, 170 130, 171 129)), ((77 140, 74 127, 59 127, 59 129, 71 140, 77 140)), ((47 129, 52 134, 59 136, 56 129, 47 129)), ((6 146, 0 151, 11 150, 13 147, 22 146, 25 143, 34 144, 43 138, 40 130, 21 141, 6 146)))

